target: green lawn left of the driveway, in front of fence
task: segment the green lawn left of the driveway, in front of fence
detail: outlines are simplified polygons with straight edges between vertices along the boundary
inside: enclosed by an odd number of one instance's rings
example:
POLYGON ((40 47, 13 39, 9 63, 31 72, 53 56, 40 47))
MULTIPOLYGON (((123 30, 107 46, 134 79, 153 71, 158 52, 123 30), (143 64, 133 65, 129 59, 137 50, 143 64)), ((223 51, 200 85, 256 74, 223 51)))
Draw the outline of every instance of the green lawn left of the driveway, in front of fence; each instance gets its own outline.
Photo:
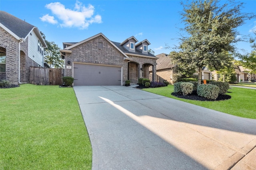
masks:
POLYGON ((73 88, 0 89, 0 169, 91 169, 92 149, 73 88))

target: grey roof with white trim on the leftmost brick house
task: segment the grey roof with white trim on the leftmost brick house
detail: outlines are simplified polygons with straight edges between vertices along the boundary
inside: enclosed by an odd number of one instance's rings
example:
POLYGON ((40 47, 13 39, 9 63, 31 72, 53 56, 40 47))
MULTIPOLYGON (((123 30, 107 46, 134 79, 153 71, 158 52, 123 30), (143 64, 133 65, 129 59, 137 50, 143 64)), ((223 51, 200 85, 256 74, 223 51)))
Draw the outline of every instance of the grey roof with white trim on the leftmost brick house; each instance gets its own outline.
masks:
POLYGON ((35 29, 36 35, 42 42, 43 46, 46 47, 46 43, 37 27, 20 20, 7 12, 0 11, 0 26, 19 40, 26 39, 27 36, 35 29))

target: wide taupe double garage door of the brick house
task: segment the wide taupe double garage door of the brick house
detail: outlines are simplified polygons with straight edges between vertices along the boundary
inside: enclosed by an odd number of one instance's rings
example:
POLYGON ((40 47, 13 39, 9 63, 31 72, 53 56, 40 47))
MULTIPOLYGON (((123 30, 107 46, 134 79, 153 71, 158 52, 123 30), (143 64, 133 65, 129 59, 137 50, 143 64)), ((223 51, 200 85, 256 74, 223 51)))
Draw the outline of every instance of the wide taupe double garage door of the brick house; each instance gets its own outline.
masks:
POLYGON ((74 63, 74 86, 120 86, 121 67, 74 63))

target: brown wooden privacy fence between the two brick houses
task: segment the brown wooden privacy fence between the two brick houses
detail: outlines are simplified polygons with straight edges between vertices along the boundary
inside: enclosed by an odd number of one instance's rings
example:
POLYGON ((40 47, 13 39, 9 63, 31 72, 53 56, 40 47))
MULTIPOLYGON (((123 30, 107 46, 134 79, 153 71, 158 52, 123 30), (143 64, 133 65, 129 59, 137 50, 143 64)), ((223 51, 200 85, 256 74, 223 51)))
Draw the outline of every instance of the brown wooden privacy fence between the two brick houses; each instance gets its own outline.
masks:
POLYGON ((62 85, 63 68, 30 67, 30 83, 37 85, 62 85))

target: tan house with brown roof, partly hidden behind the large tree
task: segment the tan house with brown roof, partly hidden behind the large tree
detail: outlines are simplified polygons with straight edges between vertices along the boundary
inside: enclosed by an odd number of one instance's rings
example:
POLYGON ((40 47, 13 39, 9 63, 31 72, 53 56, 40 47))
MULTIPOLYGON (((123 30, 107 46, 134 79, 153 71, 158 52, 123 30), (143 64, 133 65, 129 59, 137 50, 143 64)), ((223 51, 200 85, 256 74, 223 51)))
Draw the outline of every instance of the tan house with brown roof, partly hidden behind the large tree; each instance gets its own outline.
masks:
MULTIPOLYGON (((171 84, 172 74, 177 73, 177 64, 172 64, 171 59, 168 54, 158 54, 156 55, 159 59, 156 60, 156 81, 163 82, 167 80, 171 84)), ((152 73, 152 67, 149 68, 150 74, 152 73)))

